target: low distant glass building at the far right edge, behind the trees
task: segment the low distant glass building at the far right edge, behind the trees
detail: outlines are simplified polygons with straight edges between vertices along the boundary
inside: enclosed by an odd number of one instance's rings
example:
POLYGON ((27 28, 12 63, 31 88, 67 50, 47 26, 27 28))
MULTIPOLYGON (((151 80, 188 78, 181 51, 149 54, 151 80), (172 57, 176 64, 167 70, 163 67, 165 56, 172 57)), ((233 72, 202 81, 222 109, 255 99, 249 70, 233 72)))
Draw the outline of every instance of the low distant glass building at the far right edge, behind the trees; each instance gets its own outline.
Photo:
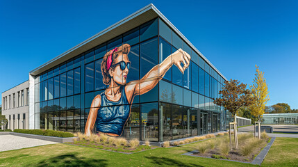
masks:
POLYGON ((263 124, 298 124, 298 113, 265 113, 262 118, 263 124))

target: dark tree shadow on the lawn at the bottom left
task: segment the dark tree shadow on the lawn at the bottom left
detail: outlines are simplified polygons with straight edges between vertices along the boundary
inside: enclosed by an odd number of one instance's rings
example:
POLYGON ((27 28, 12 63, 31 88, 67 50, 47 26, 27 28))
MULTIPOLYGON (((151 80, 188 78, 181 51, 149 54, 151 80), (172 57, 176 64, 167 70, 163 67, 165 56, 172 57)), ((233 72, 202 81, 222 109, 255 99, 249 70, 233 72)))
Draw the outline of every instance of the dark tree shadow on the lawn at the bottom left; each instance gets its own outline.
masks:
POLYGON ((40 161, 37 166, 108 166, 106 159, 87 159, 77 157, 77 154, 63 154, 56 157, 40 161))

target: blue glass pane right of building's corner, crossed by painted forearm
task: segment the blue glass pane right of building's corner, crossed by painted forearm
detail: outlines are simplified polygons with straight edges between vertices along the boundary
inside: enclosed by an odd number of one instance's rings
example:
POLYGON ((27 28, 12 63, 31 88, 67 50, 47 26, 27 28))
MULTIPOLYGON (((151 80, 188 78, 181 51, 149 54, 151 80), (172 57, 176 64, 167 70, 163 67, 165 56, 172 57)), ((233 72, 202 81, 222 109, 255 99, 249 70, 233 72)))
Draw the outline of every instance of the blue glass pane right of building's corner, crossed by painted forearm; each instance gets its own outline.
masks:
MULTIPOLYGON (((163 62, 165 58, 170 56, 171 63, 172 63, 172 45, 170 45, 168 42, 163 40, 163 38, 159 38, 159 62, 163 62)), ((167 79, 169 81, 172 81, 172 67, 167 70, 167 73, 165 73, 165 76, 163 79, 167 79)))

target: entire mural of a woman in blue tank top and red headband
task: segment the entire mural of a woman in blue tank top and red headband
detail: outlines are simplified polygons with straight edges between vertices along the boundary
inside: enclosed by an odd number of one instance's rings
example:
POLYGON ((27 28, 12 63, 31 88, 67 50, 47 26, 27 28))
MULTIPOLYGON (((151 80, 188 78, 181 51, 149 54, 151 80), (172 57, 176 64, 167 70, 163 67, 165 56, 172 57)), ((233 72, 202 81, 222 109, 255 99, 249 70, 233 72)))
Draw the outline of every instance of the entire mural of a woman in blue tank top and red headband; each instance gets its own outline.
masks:
POLYGON ((94 125, 96 125, 97 134, 104 133, 109 136, 121 136, 124 125, 131 114, 133 97, 153 89, 158 84, 158 81, 163 79, 165 73, 173 64, 182 73, 190 65, 190 55, 182 49, 178 49, 173 54, 167 56, 163 62, 152 67, 140 81, 131 81, 127 84, 126 79, 131 67, 128 57, 130 49, 131 46, 129 44, 124 44, 108 51, 103 58, 101 72, 103 82, 108 85, 108 88, 100 95, 94 97, 92 101, 92 107, 85 125, 85 134, 88 136, 92 133, 94 125), (155 79, 147 81, 149 78, 155 79))

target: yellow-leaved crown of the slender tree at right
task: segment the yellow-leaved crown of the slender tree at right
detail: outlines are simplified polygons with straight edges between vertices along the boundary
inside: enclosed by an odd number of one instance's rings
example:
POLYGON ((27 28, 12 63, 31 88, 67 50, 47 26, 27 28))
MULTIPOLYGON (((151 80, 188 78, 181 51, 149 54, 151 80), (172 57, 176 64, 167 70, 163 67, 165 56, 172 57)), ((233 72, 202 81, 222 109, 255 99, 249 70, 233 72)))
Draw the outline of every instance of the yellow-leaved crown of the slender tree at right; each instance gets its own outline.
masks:
POLYGON ((251 115, 258 117, 265 113, 265 106, 270 100, 268 96, 268 87, 266 79, 264 78, 264 72, 258 70, 256 65, 256 77, 254 78, 253 85, 251 87, 252 96, 254 97, 253 103, 250 106, 251 115))

